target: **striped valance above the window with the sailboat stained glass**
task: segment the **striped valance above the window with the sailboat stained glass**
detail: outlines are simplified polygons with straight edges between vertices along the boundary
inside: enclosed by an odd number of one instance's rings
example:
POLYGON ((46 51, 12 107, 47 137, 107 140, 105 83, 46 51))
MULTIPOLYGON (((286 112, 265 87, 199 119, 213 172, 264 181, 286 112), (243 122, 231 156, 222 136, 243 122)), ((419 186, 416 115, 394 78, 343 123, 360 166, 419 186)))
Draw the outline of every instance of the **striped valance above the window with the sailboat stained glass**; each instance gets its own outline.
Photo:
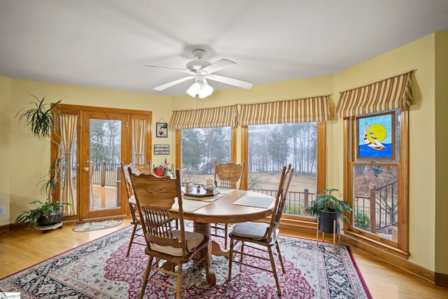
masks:
POLYGON ((335 114, 339 117, 348 117, 411 106, 414 104, 411 74, 412 71, 341 92, 335 114))

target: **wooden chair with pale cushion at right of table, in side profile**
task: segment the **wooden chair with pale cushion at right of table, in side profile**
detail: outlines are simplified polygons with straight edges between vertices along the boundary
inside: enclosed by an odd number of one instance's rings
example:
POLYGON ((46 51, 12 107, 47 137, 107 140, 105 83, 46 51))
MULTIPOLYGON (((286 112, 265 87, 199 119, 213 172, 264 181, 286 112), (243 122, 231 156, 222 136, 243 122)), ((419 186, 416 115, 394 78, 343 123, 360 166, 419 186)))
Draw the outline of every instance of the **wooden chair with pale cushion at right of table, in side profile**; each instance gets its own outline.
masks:
POLYGON ((293 173, 294 169, 291 169, 291 165, 288 165, 288 169, 286 169, 286 167, 283 167, 280 177, 279 190, 277 191, 275 198, 274 211, 272 212, 271 221, 269 223, 244 222, 236 223, 232 226, 232 232, 230 232, 229 234, 230 258, 228 281, 232 279, 232 263, 238 263, 241 265, 246 265, 248 267, 255 267, 259 270, 265 270, 274 274, 277 293, 279 296, 281 296, 279 277, 276 271, 272 247, 276 249, 280 260, 281 270, 283 271, 283 273, 285 273, 285 267, 281 258, 280 246, 277 237, 279 235, 279 223, 281 215, 283 214, 283 209, 285 207, 286 195, 288 194, 289 184, 291 179, 293 178, 293 173), (235 241, 241 242, 239 249, 235 249, 235 241), (260 246, 252 246, 252 244, 265 246, 266 249, 263 249, 262 247, 260 248, 260 246), (245 245, 254 249, 255 253, 245 253, 245 245), (269 254, 269 258, 265 258, 261 254, 258 254, 261 252, 267 252, 269 254), (236 258, 237 254, 240 255, 239 260, 234 259, 236 258), (251 256, 260 258, 262 260, 269 260, 271 263, 271 269, 269 270, 269 268, 267 267, 258 267, 256 265, 253 265, 252 263, 244 263, 244 256, 251 256))

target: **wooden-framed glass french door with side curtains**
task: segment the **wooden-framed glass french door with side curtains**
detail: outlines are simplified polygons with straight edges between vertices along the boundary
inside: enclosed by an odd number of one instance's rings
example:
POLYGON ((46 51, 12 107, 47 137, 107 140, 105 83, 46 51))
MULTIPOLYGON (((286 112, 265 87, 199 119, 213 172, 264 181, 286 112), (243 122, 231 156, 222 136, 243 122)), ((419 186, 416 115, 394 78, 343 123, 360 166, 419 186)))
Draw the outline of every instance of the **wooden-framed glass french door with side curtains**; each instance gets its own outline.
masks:
MULTIPOLYGON (((67 189, 72 194, 69 197, 73 197, 71 212, 64 220, 127 215, 120 162, 136 162, 136 156, 137 162, 151 160, 151 112, 62 104, 57 107, 58 118, 77 116, 71 148, 63 150, 66 154, 57 192, 63 201, 67 189)), ((64 135, 63 130, 59 135, 64 135)), ((57 152, 61 152, 60 148, 52 146, 53 159, 57 152)))

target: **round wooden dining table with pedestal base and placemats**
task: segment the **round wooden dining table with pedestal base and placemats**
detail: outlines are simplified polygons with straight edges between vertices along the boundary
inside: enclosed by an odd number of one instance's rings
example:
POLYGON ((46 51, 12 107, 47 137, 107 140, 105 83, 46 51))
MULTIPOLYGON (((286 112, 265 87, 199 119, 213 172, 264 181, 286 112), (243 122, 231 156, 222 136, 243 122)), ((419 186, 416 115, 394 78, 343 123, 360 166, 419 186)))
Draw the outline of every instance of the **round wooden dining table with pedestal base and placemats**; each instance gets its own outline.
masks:
MULTIPOLYGON (((224 192, 224 191, 223 191, 224 192)), ((274 211, 275 199, 272 196, 265 195, 247 190, 232 190, 232 192, 223 194, 217 200, 209 202, 205 207, 200 207, 194 211, 186 210, 188 200, 183 199, 183 218, 193 221, 193 231, 200 232, 202 235, 209 237, 211 235, 211 223, 239 223, 246 221, 255 221, 265 218, 274 211), (272 199, 268 207, 253 207, 249 205, 234 204, 242 197, 263 197, 262 199, 272 199)), ((170 210, 170 215, 179 217, 179 210, 170 210)), ((211 240, 209 246, 210 256, 227 256, 229 251, 221 249, 218 243, 211 240)), ((211 270, 212 277, 215 277, 211 270)), ((211 284, 216 283, 216 279, 212 279, 211 284)))

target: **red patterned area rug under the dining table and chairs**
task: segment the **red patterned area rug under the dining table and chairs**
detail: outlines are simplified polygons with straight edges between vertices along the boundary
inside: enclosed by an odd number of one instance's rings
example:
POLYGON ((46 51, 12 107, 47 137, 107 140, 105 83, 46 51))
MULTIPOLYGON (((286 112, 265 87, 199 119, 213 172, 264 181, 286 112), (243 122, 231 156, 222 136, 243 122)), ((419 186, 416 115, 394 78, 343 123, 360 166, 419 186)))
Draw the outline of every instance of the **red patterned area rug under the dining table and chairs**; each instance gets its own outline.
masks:
MULTIPOLYGON (((132 227, 99 238, 0 280, 1 292, 20 298, 139 298, 148 257, 134 244, 125 258, 132 227)), ((217 239, 221 242, 222 239, 217 239)), ((346 246, 280 237, 286 273, 279 270, 282 298, 372 298, 346 246)), ((253 250, 253 249, 252 249, 253 250)), ((214 256, 216 285, 204 284, 205 274, 182 298, 278 298, 271 273, 234 265, 228 282, 228 259, 214 256)), ((252 260, 260 267, 269 262, 252 260)), ((278 264, 278 261, 277 261, 278 264)), ((277 267, 280 269, 280 266, 277 267)), ((167 279, 176 284, 176 279, 167 279)), ((174 291, 148 283, 144 298, 174 298, 174 291)))

